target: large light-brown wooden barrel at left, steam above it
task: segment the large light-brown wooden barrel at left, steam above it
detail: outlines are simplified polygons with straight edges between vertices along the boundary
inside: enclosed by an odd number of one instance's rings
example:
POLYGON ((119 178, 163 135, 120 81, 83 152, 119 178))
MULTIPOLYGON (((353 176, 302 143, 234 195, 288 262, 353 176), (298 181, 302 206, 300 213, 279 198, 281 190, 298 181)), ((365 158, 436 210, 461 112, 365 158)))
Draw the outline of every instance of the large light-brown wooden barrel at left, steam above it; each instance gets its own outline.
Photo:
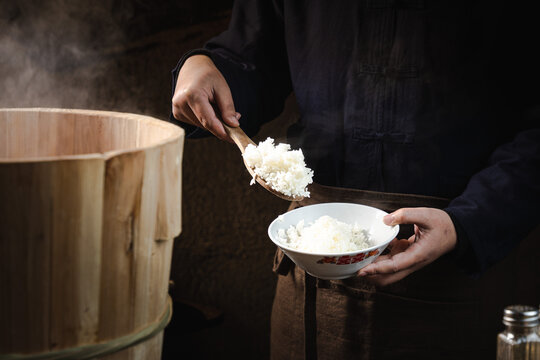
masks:
POLYGON ((183 141, 147 116, 0 110, 0 359, 160 359, 183 141))

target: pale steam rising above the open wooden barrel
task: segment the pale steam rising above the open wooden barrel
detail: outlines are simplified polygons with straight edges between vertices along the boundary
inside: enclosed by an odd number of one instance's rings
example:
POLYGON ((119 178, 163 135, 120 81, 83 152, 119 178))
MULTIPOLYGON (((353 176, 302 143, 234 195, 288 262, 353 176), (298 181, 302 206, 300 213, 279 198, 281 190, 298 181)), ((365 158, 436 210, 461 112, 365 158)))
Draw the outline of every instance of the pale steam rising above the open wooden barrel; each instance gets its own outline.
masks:
POLYGON ((103 49, 124 37, 105 10, 90 1, 0 3, 0 106, 99 107, 103 49))

